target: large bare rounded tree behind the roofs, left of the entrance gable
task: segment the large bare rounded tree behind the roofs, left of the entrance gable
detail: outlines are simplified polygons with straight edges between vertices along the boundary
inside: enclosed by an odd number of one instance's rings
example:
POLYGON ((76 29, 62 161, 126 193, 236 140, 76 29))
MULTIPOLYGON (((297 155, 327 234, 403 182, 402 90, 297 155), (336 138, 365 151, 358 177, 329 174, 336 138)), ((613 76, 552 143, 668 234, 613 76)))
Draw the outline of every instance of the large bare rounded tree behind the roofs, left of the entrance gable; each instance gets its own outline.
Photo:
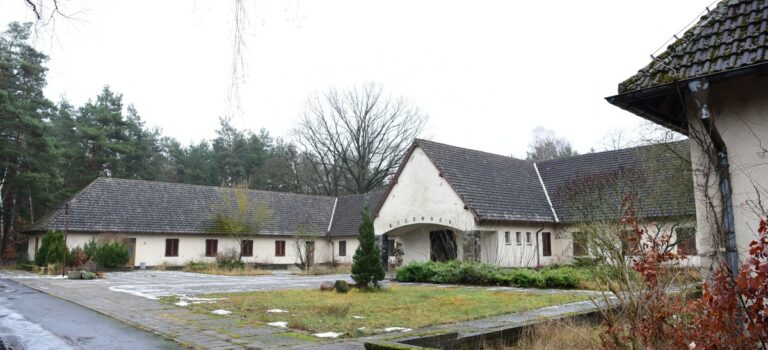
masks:
POLYGON ((312 162, 318 192, 365 193, 394 174, 425 123, 405 98, 366 84, 309 98, 293 134, 312 162))

